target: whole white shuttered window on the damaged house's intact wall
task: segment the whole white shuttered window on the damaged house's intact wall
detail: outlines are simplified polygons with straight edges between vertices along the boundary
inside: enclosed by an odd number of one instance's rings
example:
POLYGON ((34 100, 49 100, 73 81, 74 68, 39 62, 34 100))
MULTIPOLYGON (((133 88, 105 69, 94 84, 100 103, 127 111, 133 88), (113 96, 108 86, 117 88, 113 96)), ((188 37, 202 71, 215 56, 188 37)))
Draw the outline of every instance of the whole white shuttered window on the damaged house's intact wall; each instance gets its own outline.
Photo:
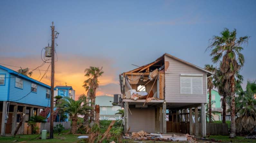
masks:
POLYGON ((203 94, 203 75, 180 75, 180 94, 203 94))

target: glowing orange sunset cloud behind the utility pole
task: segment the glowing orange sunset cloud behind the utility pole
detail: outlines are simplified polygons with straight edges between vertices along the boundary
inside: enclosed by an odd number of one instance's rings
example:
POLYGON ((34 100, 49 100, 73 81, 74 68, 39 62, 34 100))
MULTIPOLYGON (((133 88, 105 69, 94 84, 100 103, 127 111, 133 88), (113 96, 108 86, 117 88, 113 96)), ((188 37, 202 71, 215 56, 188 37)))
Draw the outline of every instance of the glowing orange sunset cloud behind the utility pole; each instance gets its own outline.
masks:
MULTIPOLYGON (((39 56, 40 57, 40 56, 39 56)), ((41 58, 34 55, 28 55, 24 57, 0 57, 2 64, 13 65, 17 67, 28 67, 36 68, 43 63, 41 58)), ((45 63, 40 70, 48 68, 50 63, 45 63)), ((81 94, 87 94, 85 89, 82 87, 84 80, 84 70, 89 66, 103 67, 104 74, 99 77, 100 88, 97 89, 96 95, 113 95, 120 92, 118 75, 115 71, 119 70, 117 67, 113 67, 115 64, 114 60, 97 55, 97 56, 78 56, 78 55, 61 55, 58 54, 58 61, 55 62, 55 74, 54 74, 54 85, 65 85, 72 86, 76 91, 76 99, 81 94)), ((3 65, 4 66, 4 65, 3 65)), ((19 68, 5 66, 7 68, 17 70, 19 68)), ((51 70, 51 67, 49 68, 51 70)), ((31 71, 31 70, 30 70, 31 71)), ((33 71, 33 79, 40 80, 45 71, 35 70, 33 71), (41 75, 40 75, 41 72, 41 75)), ((43 77, 41 82, 51 85, 51 71, 48 71, 43 77)))

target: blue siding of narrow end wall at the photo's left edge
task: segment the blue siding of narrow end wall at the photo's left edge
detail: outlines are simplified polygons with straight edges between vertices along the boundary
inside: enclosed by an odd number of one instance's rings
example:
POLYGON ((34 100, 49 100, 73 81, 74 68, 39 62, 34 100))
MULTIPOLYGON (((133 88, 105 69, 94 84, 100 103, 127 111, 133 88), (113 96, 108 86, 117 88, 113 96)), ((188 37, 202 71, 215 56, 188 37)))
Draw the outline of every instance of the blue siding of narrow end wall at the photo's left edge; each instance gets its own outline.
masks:
POLYGON ((5 84, 0 85, 0 101, 7 101, 8 91, 9 91, 8 84, 10 83, 9 82, 10 78, 8 77, 10 74, 6 70, 0 68, 0 75, 5 75, 5 84))

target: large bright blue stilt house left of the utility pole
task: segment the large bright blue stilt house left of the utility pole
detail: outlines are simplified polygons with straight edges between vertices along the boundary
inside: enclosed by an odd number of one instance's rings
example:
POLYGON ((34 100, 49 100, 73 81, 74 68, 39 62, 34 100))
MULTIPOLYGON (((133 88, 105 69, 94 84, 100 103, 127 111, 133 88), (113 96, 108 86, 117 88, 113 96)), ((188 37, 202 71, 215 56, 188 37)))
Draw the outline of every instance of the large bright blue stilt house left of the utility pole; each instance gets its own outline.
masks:
MULTIPOLYGON (((51 86, 0 65, 0 131, 1 136, 14 134, 19 122, 17 112, 27 121, 50 107, 51 86)), ((23 123, 25 123, 25 121, 23 123)), ((24 124, 18 133, 24 133, 24 124), (21 131, 20 131, 21 130, 21 131)))

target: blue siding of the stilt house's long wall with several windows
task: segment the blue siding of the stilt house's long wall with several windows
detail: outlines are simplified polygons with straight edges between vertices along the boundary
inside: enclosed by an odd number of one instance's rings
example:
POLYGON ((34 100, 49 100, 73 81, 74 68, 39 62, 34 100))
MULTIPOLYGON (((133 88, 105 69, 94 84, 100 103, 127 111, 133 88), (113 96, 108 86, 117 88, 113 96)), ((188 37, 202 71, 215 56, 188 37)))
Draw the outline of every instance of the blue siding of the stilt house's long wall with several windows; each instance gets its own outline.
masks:
MULTIPOLYGON (((19 77, 23 79, 23 89, 15 88, 15 75, 11 75, 11 77, 13 78, 10 78, 9 101, 47 107, 49 99, 46 99, 46 87, 37 85, 37 93, 30 92, 31 83, 33 82, 19 77), (22 97, 24 98, 21 99, 22 97), (18 100, 18 101, 15 101, 15 100, 18 100)), ((50 107, 50 104, 49 104, 49 107, 50 107)))

